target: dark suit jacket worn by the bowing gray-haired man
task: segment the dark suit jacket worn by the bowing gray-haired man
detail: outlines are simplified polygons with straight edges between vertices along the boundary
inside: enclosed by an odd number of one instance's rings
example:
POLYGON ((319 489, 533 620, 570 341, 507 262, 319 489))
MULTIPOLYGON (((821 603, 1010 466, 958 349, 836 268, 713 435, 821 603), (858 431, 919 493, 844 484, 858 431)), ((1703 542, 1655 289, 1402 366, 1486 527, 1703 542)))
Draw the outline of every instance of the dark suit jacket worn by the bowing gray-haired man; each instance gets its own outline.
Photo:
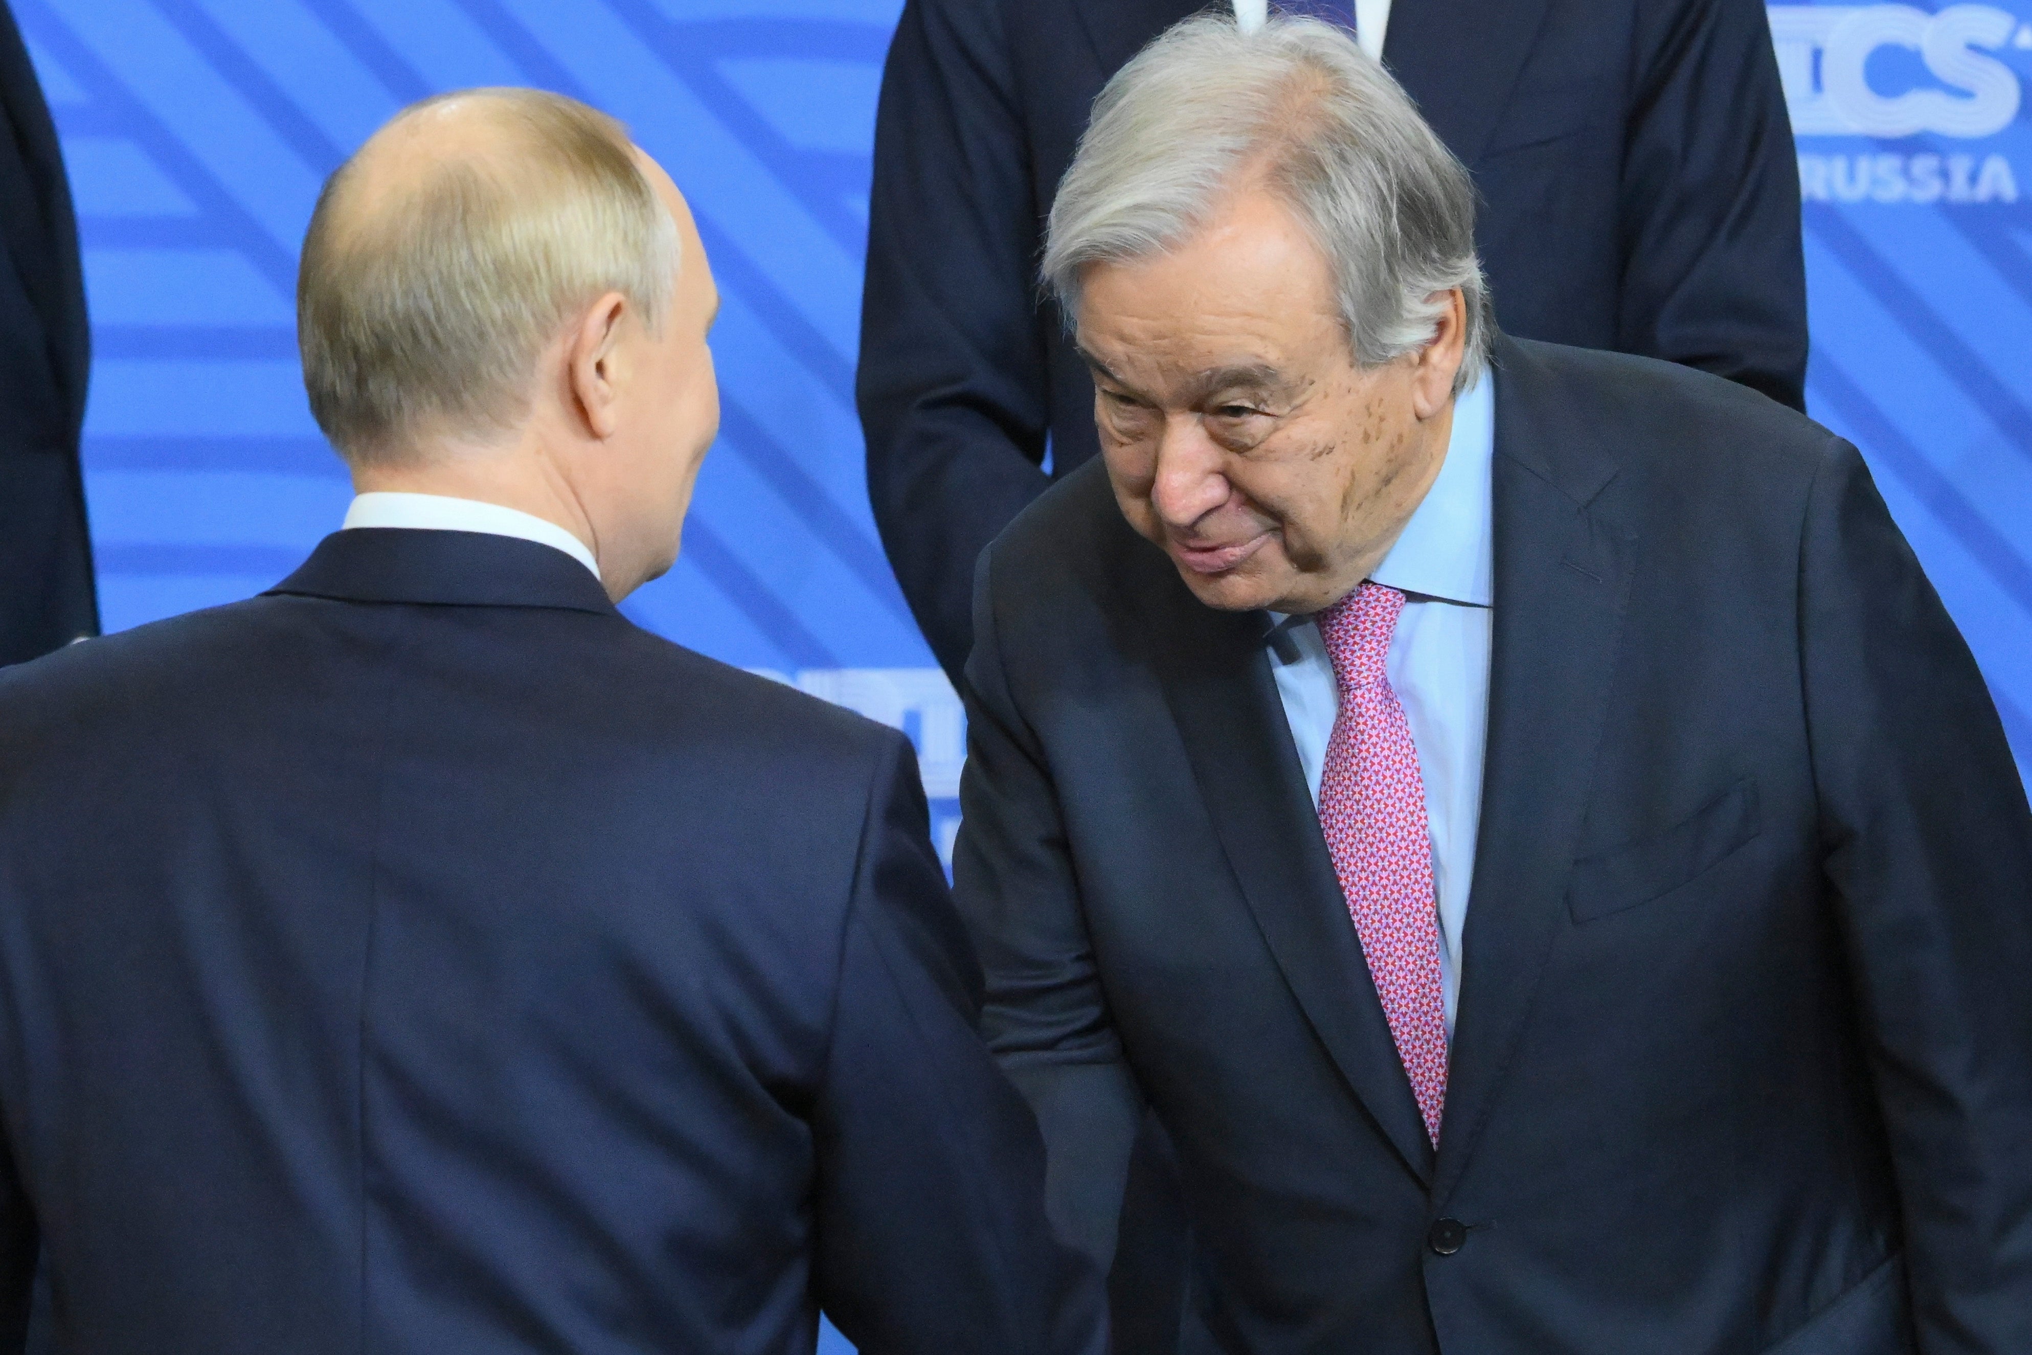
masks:
POLYGON ((1229 1353, 2032 1349, 2032 815, 1967 646, 1825 429, 1644 358, 1494 376, 1437 1152, 1264 614, 1099 463, 983 557, 955 898, 1061 1227, 1105 1260, 1148 1101, 1229 1353))

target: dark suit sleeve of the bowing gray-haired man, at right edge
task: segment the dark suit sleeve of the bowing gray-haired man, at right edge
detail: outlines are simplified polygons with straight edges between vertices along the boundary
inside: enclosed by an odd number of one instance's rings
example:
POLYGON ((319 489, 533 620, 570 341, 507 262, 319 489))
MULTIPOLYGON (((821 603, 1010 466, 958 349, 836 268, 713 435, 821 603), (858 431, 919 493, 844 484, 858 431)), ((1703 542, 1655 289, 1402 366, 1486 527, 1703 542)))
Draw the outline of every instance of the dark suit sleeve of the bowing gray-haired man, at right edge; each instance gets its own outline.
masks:
POLYGON ((1821 837, 1918 1349, 2032 1351, 2032 813, 1983 676, 1847 443, 1802 551, 1821 837))

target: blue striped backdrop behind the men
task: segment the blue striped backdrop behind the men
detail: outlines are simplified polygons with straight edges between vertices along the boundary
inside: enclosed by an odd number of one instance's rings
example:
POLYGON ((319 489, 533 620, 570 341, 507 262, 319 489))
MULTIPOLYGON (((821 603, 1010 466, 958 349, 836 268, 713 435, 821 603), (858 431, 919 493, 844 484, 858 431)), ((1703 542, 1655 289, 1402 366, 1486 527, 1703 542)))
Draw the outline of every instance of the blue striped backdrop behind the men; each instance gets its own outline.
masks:
MULTIPOLYGON (((640 624, 904 727, 949 839, 951 689, 862 486, 868 146, 898 0, 14 0, 63 132, 108 630, 246 597, 347 500, 297 378, 321 179, 410 100, 547 85, 689 193, 725 425, 640 624)), ((1772 6, 1815 416, 1869 457, 2032 766, 2032 0, 1772 6)))

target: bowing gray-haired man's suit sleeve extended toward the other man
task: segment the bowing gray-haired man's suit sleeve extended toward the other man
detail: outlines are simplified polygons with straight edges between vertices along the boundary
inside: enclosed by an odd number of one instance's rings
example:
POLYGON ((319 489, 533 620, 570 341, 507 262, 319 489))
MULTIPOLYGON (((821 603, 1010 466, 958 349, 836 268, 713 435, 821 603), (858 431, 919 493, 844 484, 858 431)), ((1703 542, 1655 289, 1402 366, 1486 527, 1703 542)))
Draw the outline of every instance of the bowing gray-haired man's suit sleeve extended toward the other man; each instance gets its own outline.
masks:
POLYGON ((1101 991, 1051 768, 1010 695, 992 573, 990 549, 967 660, 953 894, 986 969, 990 1046, 1044 1134, 1053 1223, 1109 1268, 1142 1093, 1101 991))

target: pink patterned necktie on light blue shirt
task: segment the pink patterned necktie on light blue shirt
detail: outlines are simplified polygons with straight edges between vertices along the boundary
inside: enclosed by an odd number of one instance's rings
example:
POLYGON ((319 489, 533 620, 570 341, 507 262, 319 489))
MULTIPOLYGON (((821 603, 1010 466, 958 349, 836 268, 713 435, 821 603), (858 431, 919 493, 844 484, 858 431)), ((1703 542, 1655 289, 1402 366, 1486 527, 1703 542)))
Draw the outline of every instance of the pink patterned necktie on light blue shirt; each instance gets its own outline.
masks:
POLYGON ((1447 1103, 1447 1008, 1439 981, 1433 841, 1418 748, 1384 672, 1402 611, 1404 593, 1363 583, 1319 614, 1319 634, 1341 689, 1319 782, 1319 827, 1424 1132, 1439 1144, 1439 1115, 1447 1103))

